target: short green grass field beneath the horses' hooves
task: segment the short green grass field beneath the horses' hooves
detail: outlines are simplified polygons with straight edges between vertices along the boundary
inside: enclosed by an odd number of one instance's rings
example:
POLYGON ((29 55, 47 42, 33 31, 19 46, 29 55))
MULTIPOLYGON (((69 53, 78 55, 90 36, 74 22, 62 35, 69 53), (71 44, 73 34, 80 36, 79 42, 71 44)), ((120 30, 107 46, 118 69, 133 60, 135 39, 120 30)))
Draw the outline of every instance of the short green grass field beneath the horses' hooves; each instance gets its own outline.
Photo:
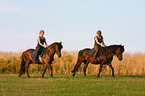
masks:
POLYGON ((0 96, 145 96, 144 76, 0 74, 0 96))

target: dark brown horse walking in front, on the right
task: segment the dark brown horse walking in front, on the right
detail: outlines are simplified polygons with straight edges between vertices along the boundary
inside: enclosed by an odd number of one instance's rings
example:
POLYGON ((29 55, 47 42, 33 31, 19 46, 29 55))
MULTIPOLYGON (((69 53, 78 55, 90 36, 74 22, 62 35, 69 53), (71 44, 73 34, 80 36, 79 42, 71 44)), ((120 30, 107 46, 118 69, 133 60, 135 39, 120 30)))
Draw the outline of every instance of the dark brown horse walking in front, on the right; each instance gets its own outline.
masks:
POLYGON ((73 76, 75 76, 75 73, 78 70, 81 63, 84 62, 83 71, 84 71, 85 76, 86 76, 86 68, 87 68, 88 64, 92 63, 92 64, 95 64, 95 65, 100 64, 99 73, 98 73, 97 77, 100 77, 102 67, 105 64, 108 65, 112 69, 112 77, 114 77, 114 68, 112 67, 111 62, 113 60, 114 55, 117 56, 118 60, 120 60, 120 61, 123 60, 122 54, 125 50, 124 46, 122 46, 122 45, 111 45, 111 46, 107 46, 105 48, 101 47, 100 51, 102 53, 98 54, 97 61, 94 61, 93 57, 88 55, 88 52, 90 50, 92 50, 92 49, 86 48, 86 49, 83 49, 83 50, 79 51, 77 63, 75 65, 74 69, 71 71, 73 73, 73 76))

